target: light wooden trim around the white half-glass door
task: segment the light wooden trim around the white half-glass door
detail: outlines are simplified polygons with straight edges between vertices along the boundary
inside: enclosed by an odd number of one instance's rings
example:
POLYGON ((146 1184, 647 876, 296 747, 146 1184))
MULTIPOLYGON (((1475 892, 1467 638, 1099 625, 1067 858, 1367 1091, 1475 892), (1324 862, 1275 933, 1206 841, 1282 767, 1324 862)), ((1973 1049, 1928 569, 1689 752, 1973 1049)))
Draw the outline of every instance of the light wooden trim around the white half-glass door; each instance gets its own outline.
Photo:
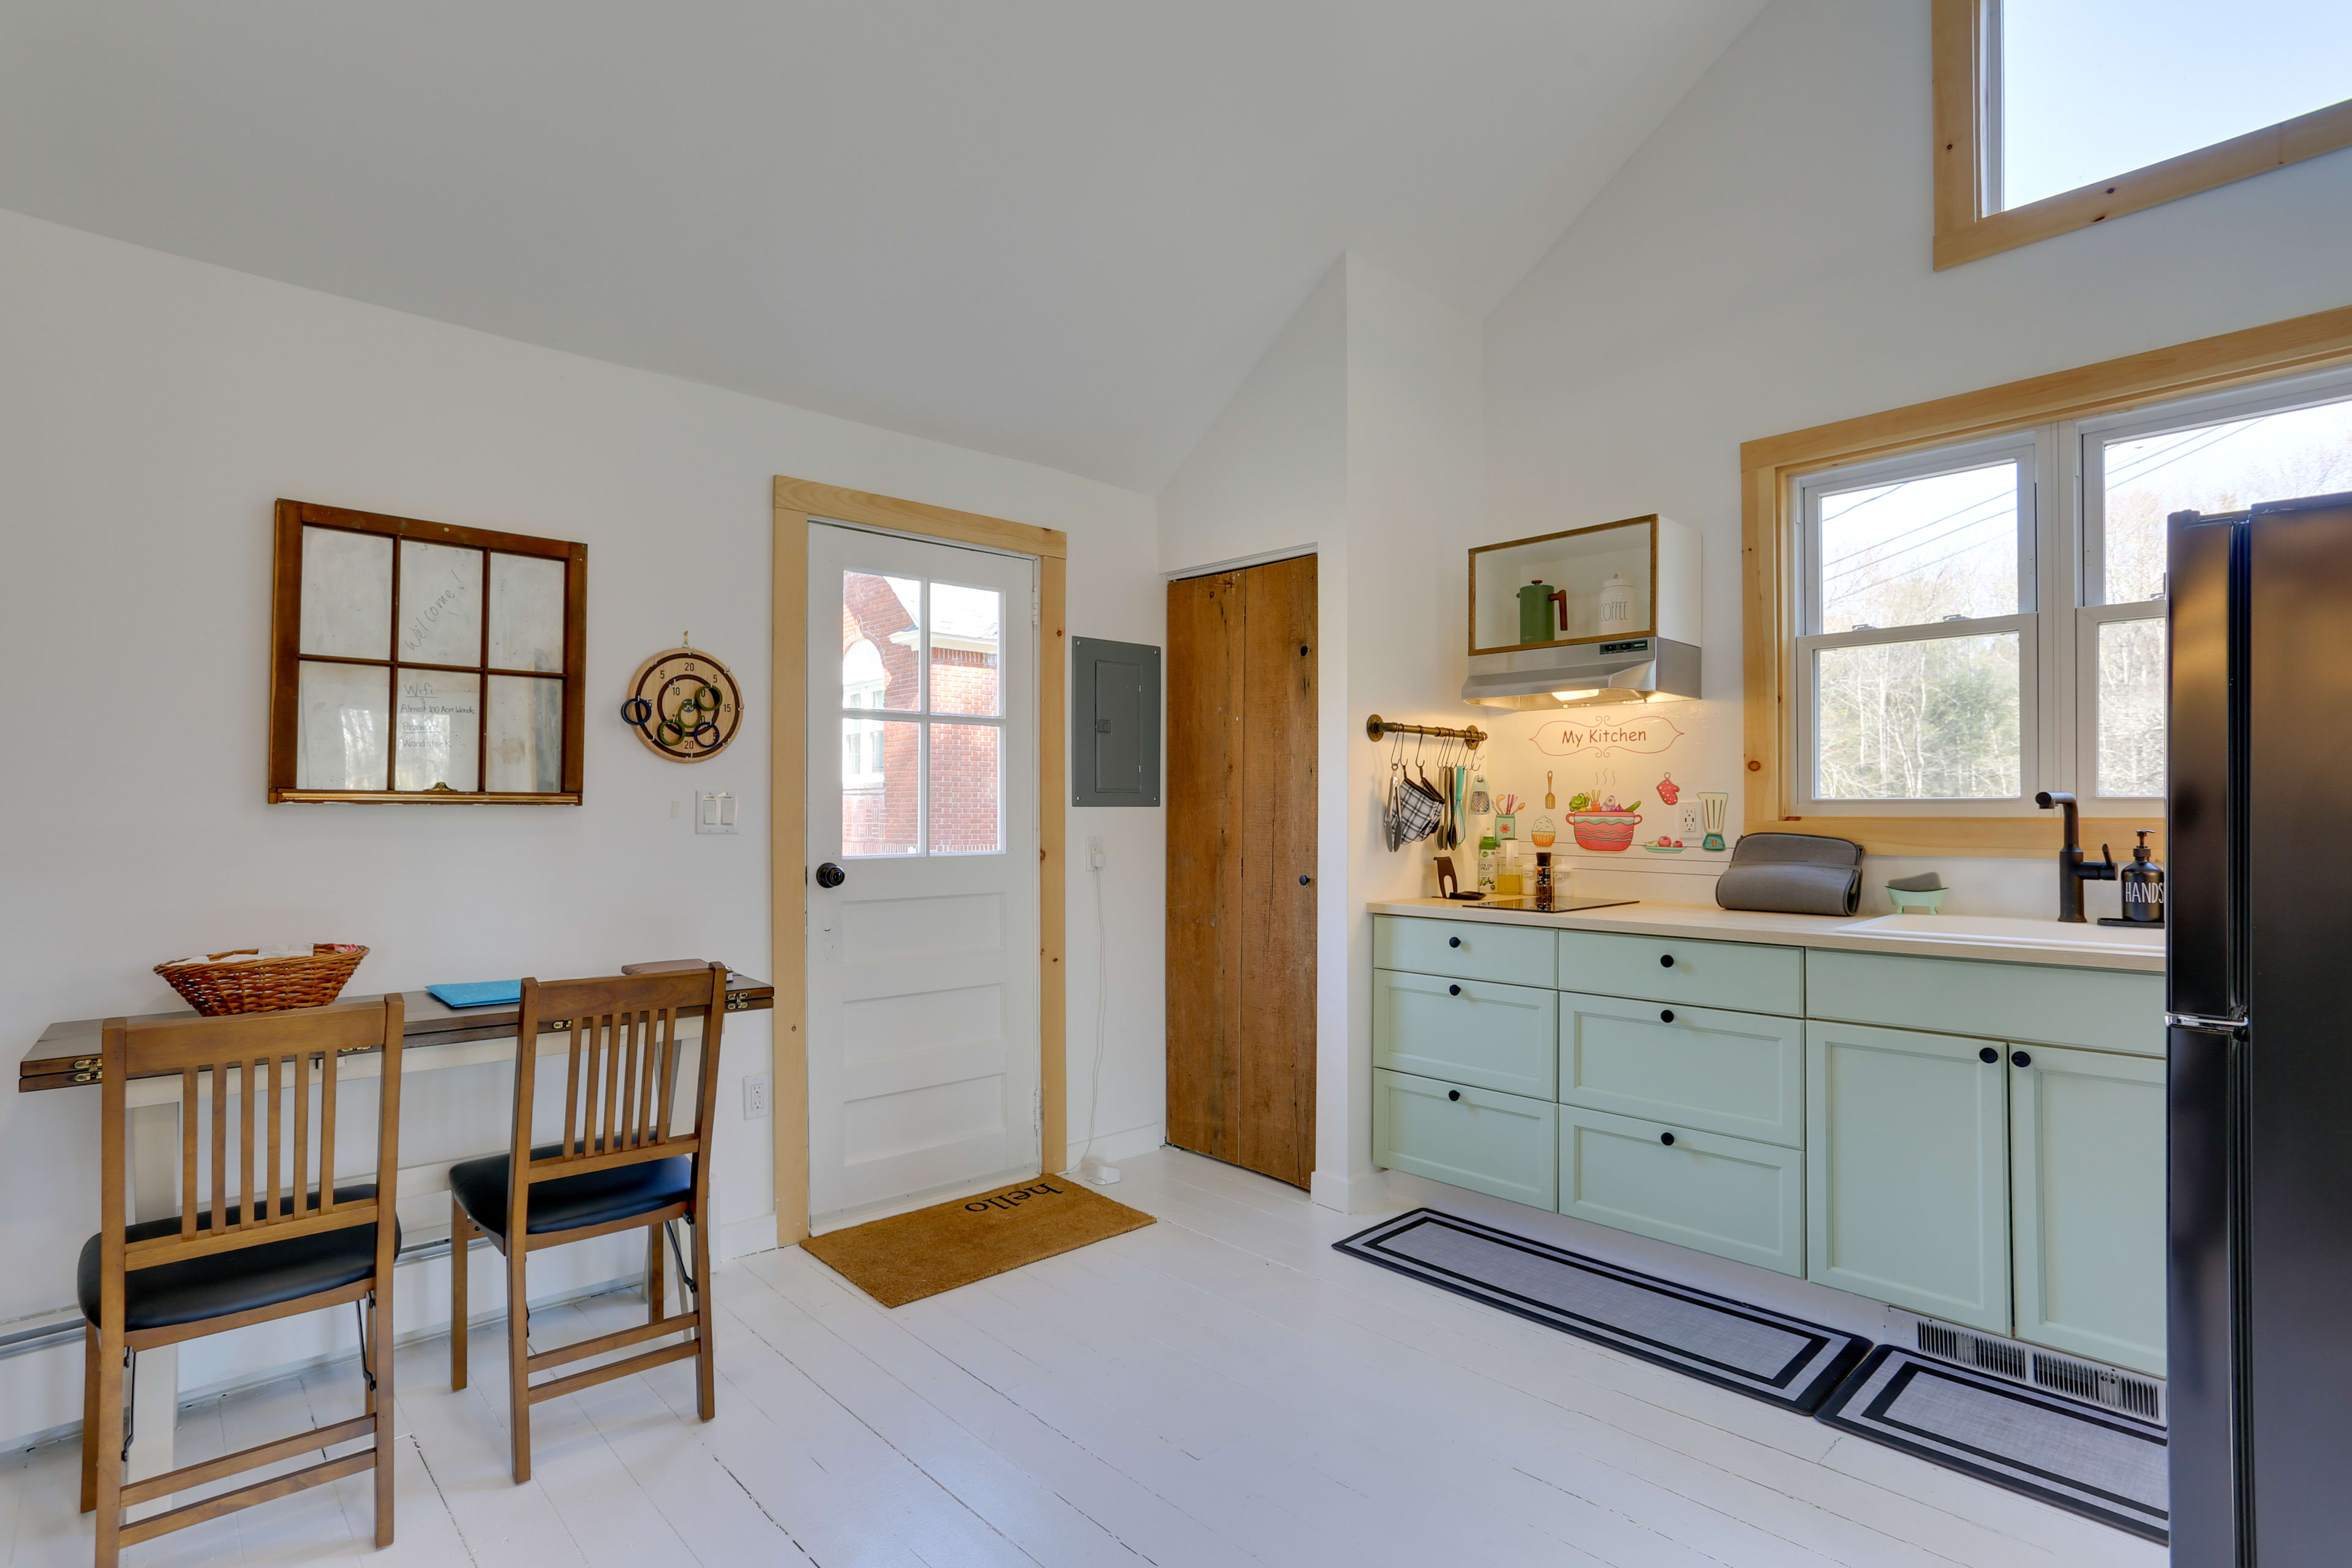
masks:
POLYGON ((1068 1164, 1068 997, 1063 994, 1070 538, 1061 529, 957 512, 776 475, 774 646, 769 649, 769 924, 776 976, 776 1246, 809 1237, 809 524, 856 522, 953 545, 1037 557, 1037 1093, 1040 1173, 1068 1164))

